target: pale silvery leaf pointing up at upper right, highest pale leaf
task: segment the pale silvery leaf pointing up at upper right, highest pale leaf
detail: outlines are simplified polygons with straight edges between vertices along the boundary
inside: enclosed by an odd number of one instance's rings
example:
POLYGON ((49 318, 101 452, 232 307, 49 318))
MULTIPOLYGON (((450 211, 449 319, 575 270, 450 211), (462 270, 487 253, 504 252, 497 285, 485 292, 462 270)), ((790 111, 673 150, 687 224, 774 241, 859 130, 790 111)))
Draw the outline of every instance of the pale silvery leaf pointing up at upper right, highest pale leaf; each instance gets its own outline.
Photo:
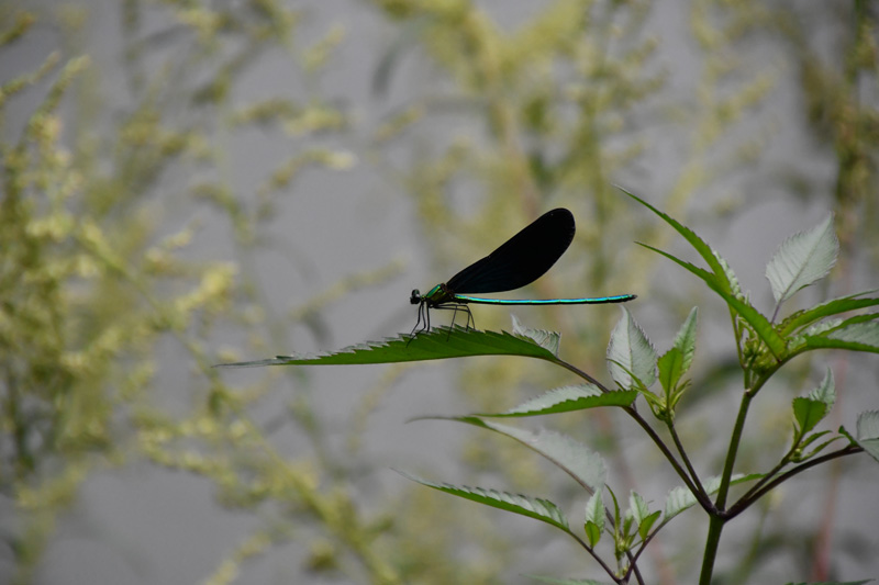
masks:
POLYGON ((812 229, 800 232, 781 243, 766 265, 772 296, 781 304, 793 294, 826 277, 839 254, 833 230, 833 215, 812 229))

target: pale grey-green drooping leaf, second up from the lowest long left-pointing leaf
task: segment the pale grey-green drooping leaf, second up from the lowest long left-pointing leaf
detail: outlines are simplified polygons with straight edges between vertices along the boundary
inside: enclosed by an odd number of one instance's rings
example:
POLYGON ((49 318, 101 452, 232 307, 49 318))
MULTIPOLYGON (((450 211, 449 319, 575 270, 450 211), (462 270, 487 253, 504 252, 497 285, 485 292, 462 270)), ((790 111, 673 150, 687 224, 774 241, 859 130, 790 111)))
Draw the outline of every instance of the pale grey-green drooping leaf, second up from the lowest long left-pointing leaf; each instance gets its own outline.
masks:
POLYGON ((600 454, 586 445, 555 430, 531 431, 500 423, 482 420, 475 416, 430 417, 434 419, 457 420, 487 428, 518 440, 528 449, 552 461, 587 491, 600 492, 604 487, 608 469, 600 454))

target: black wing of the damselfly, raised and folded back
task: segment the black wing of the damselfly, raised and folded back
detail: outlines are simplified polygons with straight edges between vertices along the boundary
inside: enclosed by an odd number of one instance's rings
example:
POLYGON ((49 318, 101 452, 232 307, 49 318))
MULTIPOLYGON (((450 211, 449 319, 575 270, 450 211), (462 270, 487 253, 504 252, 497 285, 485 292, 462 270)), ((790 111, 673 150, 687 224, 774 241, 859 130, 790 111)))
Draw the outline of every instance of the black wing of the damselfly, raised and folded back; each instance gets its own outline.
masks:
POLYGON ((468 266, 447 282, 458 294, 512 291, 546 273, 574 239, 574 215, 548 211, 508 239, 500 248, 468 266))

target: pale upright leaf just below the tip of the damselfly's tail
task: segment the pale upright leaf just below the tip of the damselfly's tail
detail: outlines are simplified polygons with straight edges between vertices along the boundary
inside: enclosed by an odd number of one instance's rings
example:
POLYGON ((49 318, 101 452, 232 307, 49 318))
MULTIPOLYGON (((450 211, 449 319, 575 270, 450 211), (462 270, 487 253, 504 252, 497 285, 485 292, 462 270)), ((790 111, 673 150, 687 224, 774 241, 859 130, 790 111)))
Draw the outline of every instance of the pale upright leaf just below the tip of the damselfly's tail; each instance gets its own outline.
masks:
POLYGON ((608 345, 608 369, 611 378, 623 389, 632 389, 632 375, 648 387, 656 380, 656 350, 628 311, 621 308, 623 316, 613 328, 608 345))

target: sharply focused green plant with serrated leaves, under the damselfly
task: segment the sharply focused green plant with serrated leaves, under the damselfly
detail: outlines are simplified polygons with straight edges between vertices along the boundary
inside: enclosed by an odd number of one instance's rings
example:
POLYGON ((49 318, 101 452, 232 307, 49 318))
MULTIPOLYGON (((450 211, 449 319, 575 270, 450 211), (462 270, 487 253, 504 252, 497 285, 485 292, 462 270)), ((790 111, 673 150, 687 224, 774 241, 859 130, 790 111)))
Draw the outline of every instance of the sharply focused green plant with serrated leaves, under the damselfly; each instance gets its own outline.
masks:
MULTIPOLYGON (((560 507, 548 499, 436 483, 403 474, 441 492, 534 518, 557 528, 576 540, 607 576, 617 584, 632 581, 646 583, 648 580, 641 574, 638 560, 647 545, 676 516, 698 504, 709 518, 700 577, 700 583, 708 585, 715 572, 721 535, 726 524, 778 485, 821 463, 864 451, 879 461, 879 410, 861 413, 857 420, 857 432, 854 434, 842 426, 835 432, 816 430, 835 401, 834 378, 827 368, 823 381, 814 390, 805 396, 793 398, 790 446, 777 458, 776 464, 768 471, 735 473, 737 453, 747 439, 744 428, 749 409, 785 364, 802 353, 819 349, 879 353, 879 313, 842 316, 852 311, 877 306, 879 297, 868 296, 868 293, 848 295, 793 312, 778 320, 782 304, 799 290, 826 277, 836 261, 838 243, 832 217, 828 217, 814 228, 788 238, 769 261, 766 275, 776 306, 772 315, 766 316, 742 293, 735 274, 716 250, 669 215, 632 193, 626 194, 674 227, 701 256, 708 269, 652 246, 645 247, 699 278, 726 303, 730 311, 743 387, 726 457, 716 476, 708 477, 697 471, 691 451, 680 439, 676 425, 681 400, 688 392, 699 392, 687 376, 697 349, 697 308, 690 312, 671 348, 661 356, 657 356, 644 331, 624 308, 623 318, 614 328, 608 349, 609 370, 615 387, 601 383, 596 375, 560 359, 558 334, 527 329, 518 322, 514 323, 513 334, 460 327, 438 328, 414 337, 354 346, 316 357, 279 356, 226 365, 365 364, 516 356, 537 358, 565 368, 581 378, 583 383, 552 390, 500 413, 436 418, 474 425, 518 440, 568 473, 590 494, 582 532, 572 529, 560 507), (657 381, 659 390, 650 390, 657 381), (666 438, 648 421, 649 417, 643 414, 643 408, 638 408, 638 397, 643 398, 654 421, 665 429, 666 438), (683 486, 669 492, 664 509, 650 509, 647 500, 634 491, 625 508, 622 495, 617 495, 607 483, 607 470, 601 457, 574 438, 556 431, 527 431, 492 420, 599 407, 622 408, 649 437, 683 482, 683 486), (734 495, 733 487, 739 484, 744 493, 734 495), (611 541, 611 560, 598 549, 602 540, 611 541)), ((593 583, 543 576, 535 578, 546 583, 593 583)))

